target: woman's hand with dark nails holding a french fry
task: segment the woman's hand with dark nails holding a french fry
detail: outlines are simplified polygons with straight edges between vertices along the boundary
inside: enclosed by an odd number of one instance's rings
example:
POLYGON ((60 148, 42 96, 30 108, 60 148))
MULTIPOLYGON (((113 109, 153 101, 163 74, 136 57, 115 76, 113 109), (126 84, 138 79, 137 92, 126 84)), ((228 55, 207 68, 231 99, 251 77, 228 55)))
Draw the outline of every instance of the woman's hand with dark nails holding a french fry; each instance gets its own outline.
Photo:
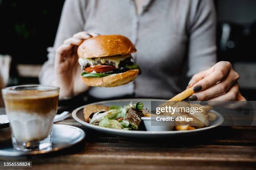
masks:
POLYGON ((188 87, 193 86, 196 93, 189 100, 207 100, 203 104, 209 101, 246 101, 239 91, 239 78, 230 62, 220 61, 192 77, 188 87))

